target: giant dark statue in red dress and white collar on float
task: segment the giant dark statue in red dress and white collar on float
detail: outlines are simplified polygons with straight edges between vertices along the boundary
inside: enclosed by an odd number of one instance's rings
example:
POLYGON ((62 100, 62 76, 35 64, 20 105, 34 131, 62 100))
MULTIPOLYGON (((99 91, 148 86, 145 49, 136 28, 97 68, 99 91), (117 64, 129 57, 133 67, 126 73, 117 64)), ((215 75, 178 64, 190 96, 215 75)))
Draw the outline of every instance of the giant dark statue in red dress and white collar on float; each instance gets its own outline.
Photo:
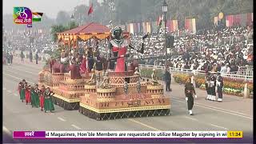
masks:
MULTIPOLYGON (((110 41, 110 70, 114 70, 115 72, 125 72, 128 70, 128 66, 126 64, 126 58, 130 56, 130 54, 126 54, 128 47, 135 50, 134 46, 132 46, 128 41, 122 37, 122 28, 117 26, 114 28, 112 32, 112 40, 110 41)), ((145 36, 143 38, 146 38, 145 36)), ((142 43, 141 50, 136 50, 137 52, 143 54, 144 53, 144 43, 142 43)), ((132 62, 130 64, 130 70, 134 70, 135 66, 138 65, 137 62, 132 62)))

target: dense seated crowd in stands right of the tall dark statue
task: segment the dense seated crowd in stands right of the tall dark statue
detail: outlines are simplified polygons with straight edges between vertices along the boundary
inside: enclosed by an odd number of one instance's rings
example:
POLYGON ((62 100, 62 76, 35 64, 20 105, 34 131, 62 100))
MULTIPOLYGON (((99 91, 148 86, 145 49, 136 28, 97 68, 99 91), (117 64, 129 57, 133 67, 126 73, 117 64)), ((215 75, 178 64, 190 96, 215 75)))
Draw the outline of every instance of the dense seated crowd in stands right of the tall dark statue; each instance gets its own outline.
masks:
MULTIPOLYGON (((174 35, 174 50, 183 50, 181 55, 172 55, 167 65, 174 68, 235 72, 240 68, 253 65, 252 27, 232 27, 222 30, 201 30, 198 34, 174 35), (250 38, 249 38, 250 37, 250 38), (242 39, 243 38, 243 39, 242 39), (198 51, 188 48, 199 46, 198 51)), ((142 35, 134 34, 133 43, 142 43, 142 35)), ((145 64, 165 66, 165 39, 163 34, 154 34, 145 41, 143 58, 163 56, 156 61, 148 59, 145 64)))

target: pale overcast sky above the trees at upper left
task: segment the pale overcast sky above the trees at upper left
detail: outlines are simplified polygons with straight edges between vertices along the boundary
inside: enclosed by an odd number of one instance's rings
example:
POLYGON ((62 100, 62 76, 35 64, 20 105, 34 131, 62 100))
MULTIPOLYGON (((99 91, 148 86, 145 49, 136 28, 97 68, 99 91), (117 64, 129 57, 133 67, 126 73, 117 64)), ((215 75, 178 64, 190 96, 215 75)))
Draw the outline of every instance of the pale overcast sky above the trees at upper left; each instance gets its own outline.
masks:
POLYGON ((15 6, 25 6, 34 12, 42 12, 50 18, 56 18, 58 11, 72 11, 75 6, 86 4, 89 0, 3 0, 3 14, 13 14, 15 6))

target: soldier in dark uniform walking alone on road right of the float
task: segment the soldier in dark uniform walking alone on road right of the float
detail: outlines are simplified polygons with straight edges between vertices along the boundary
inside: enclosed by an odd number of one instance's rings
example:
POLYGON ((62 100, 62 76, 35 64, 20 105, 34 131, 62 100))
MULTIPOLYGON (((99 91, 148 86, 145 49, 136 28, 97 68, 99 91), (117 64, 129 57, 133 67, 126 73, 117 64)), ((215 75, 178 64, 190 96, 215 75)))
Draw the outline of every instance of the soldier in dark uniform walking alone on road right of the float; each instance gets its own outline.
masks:
POLYGON ((194 98, 197 98, 197 95, 195 94, 194 86, 191 83, 191 78, 189 78, 186 82, 185 95, 186 95, 187 108, 190 112, 190 115, 193 115, 192 108, 194 106, 194 98))

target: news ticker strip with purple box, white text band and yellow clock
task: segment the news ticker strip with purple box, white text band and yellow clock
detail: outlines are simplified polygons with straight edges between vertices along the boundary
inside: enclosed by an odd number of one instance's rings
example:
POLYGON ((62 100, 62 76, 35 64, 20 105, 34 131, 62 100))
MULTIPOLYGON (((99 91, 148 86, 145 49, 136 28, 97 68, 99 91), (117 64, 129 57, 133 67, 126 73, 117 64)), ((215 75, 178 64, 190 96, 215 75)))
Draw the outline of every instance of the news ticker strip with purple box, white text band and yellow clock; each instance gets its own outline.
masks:
POLYGON ((242 138, 242 131, 14 131, 13 138, 242 138))

